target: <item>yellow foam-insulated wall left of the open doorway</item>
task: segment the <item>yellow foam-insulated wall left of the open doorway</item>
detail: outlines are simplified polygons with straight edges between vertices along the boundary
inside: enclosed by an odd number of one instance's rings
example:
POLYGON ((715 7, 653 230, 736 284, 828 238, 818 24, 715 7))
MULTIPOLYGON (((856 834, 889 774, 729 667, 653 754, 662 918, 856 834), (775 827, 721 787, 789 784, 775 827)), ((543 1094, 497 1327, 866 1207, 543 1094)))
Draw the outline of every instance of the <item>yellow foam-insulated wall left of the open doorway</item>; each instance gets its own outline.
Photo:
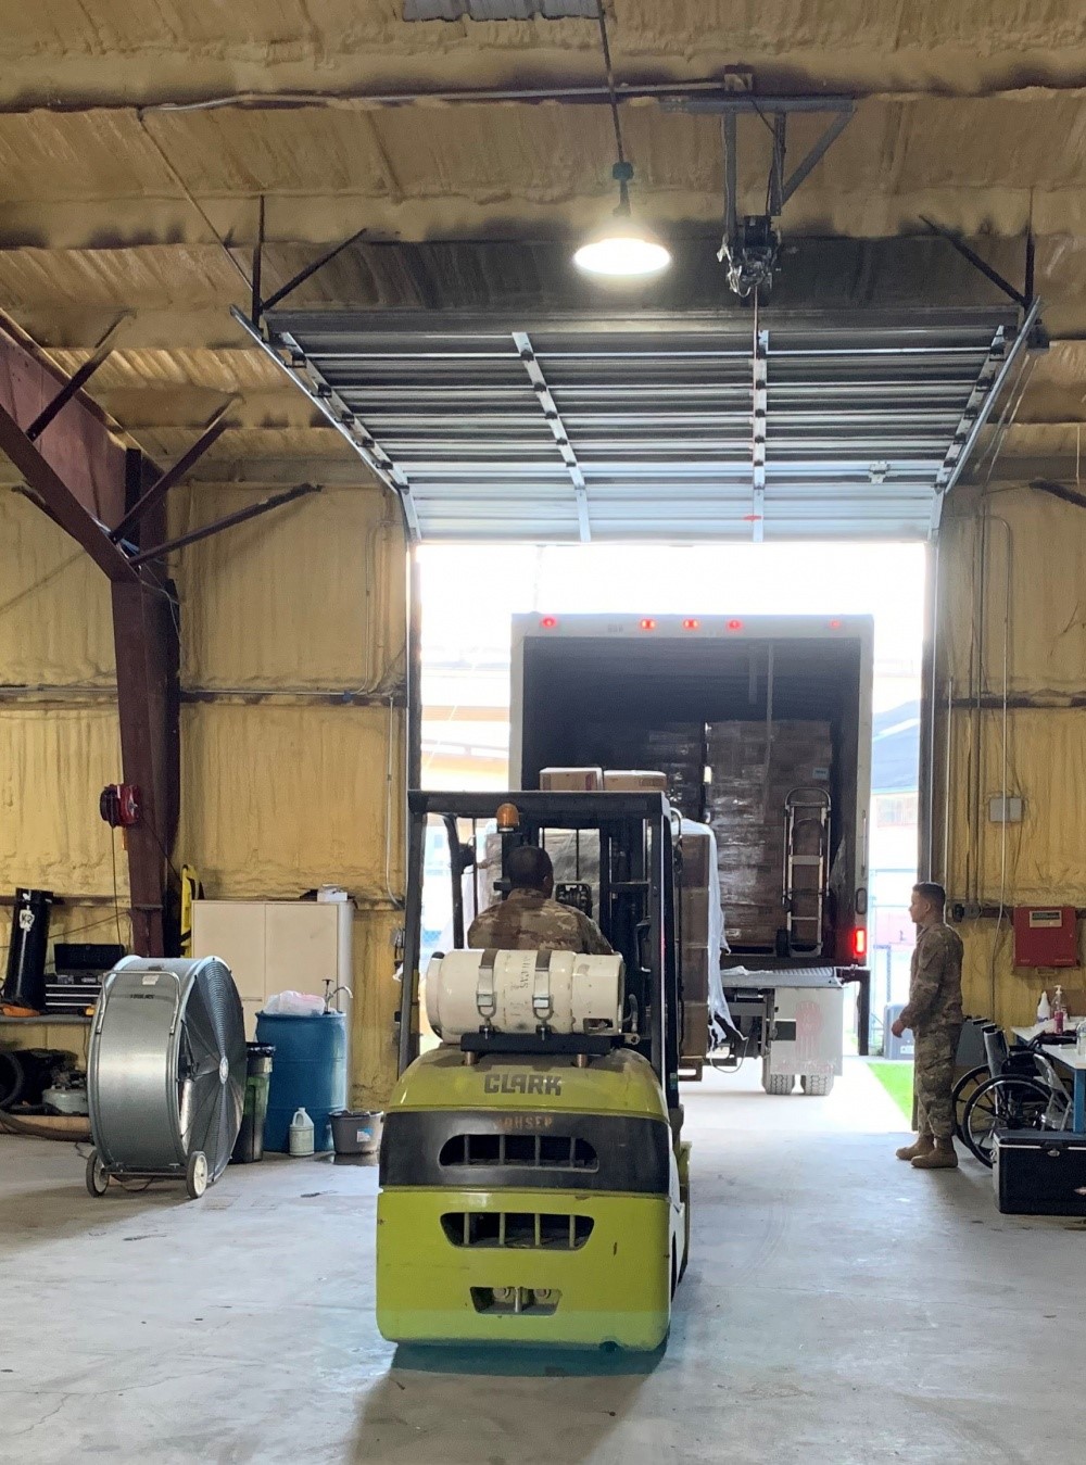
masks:
MULTIPOLYGON (((261 489, 174 489, 170 532, 261 489)), ((53 932, 116 939, 98 817, 120 776, 108 587, 25 498, 0 494, 0 895, 63 895, 53 932)), ((375 488, 328 488, 174 555, 182 643, 182 813, 173 863, 220 900, 356 900, 352 1096, 394 1078, 393 936, 402 923, 405 542, 375 488)), ((116 845, 122 930, 128 866, 116 845)), ((3 910, 0 960, 10 916, 3 910)), ((303 976, 299 984, 305 986, 303 976)), ((0 1043, 82 1052, 82 1030, 0 1026, 0 1043)))

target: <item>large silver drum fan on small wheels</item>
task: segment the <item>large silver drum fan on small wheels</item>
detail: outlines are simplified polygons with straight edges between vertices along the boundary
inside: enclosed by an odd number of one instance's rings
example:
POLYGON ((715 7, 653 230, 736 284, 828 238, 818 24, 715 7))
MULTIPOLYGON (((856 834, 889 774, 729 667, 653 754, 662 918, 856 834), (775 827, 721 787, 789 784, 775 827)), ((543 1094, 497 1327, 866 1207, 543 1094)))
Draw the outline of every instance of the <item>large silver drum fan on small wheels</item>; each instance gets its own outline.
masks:
POLYGON ((195 1200, 230 1160, 245 1100, 245 1015, 229 967, 125 957, 103 983, 86 1065, 86 1188, 185 1179, 195 1200))

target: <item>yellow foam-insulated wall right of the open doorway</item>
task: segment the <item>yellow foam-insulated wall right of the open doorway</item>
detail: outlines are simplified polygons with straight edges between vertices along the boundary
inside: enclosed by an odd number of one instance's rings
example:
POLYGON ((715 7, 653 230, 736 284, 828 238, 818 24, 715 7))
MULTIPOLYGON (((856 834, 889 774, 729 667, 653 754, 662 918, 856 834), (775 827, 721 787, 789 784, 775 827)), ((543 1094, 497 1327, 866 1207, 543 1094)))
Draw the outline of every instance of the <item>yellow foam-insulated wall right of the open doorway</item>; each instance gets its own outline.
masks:
POLYGON ((1086 508, 1038 489, 963 495, 944 519, 932 762, 934 873, 966 907, 966 1009, 1032 1020, 1013 965, 1014 905, 1086 905, 1086 508), (992 817, 1001 794, 1022 820, 992 817))

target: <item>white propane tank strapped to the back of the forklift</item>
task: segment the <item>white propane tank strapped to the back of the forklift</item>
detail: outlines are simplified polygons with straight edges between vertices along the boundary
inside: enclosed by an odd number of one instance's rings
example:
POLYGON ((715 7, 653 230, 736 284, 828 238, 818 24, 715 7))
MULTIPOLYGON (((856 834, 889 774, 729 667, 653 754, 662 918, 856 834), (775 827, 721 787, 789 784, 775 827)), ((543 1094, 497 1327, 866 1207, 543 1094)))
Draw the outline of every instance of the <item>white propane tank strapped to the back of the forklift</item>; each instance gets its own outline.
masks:
POLYGON ((426 968, 426 1017, 447 1043, 465 1033, 620 1033, 623 958, 573 951, 450 951, 426 968))

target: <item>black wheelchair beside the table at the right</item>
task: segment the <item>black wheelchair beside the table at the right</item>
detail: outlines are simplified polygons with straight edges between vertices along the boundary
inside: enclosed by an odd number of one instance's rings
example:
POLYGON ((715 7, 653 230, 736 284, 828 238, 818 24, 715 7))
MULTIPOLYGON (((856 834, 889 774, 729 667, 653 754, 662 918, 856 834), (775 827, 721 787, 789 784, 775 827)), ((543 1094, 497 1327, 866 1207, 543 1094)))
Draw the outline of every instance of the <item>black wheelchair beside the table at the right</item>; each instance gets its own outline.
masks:
POLYGON ((983 1045, 986 1062, 954 1084, 954 1128, 991 1169, 997 1130, 1065 1130, 1071 1100, 1039 1040, 1010 1049, 992 1023, 983 1030, 983 1045))

